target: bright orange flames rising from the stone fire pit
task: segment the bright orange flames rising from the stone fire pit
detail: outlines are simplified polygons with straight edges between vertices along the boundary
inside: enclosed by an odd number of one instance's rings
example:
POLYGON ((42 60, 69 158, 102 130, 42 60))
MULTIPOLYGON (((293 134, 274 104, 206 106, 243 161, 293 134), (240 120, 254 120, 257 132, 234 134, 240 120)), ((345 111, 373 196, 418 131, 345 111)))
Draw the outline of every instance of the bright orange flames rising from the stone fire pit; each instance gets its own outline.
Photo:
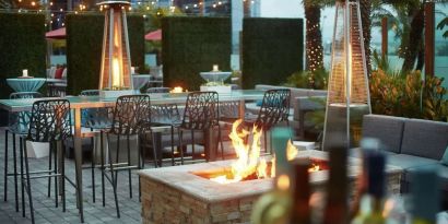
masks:
MULTIPOLYGON (((239 129, 243 120, 236 120, 232 126, 232 132, 228 135, 232 140, 232 145, 235 149, 237 161, 232 164, 232 175, 221 175, 211 180, 220 184, 231 184, 241 181, 250 175, 256 175, 257 178, 269 178, 275 176, 275 157, 271 160, 271 170, 268 167, 268 161, 260 157, 261 135, 262 131, 254 127, 251 131, 252 142, 246 144, 250 132, 245 129, 239 129)), ((288 141, 287 143, 287 160, 294 160, 297 155, 297 149, 288 141)))

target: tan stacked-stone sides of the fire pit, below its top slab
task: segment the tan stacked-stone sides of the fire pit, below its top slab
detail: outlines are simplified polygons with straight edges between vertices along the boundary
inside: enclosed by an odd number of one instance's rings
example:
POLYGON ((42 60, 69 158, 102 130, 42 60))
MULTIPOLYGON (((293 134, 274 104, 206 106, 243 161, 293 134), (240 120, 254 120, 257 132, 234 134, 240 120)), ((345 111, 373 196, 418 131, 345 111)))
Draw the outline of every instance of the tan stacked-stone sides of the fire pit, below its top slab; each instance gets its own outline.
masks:
MULTIPOLYGON (((388 174, 388 192, 400 192, 401 172, 388 174)), ((258 196, 239 199, 204 202, 165 184, 142 176, 142 221, 144 224, 249 224, 254 202, 258 196)), ((355 182, 351 184, 351 196, 355 182)), ((323 189, 314 186, 314 191, 323 189)))

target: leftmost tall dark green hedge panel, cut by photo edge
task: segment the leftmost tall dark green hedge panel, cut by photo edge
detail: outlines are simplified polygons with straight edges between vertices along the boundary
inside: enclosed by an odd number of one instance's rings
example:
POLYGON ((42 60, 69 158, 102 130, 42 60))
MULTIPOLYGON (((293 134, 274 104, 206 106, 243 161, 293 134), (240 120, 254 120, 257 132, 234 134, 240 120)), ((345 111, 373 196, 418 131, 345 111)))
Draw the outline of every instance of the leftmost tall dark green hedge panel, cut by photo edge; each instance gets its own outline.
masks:
POLYGON ((0 98, 13 90, 8 78, 46 76, 45 15, 36 13, 0 13, 0 98))

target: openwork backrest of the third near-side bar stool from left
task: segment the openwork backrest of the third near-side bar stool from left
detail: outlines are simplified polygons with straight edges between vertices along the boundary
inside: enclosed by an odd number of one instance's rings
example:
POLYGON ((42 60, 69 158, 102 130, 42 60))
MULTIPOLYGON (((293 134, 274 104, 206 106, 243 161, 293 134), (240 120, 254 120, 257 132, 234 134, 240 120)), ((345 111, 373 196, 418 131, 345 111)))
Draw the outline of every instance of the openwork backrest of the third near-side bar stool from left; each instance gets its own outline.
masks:
POLYGON ((220 105, 216 92, 191 92, 187 96, 181 128, 204 130, 219 125, 220 105))

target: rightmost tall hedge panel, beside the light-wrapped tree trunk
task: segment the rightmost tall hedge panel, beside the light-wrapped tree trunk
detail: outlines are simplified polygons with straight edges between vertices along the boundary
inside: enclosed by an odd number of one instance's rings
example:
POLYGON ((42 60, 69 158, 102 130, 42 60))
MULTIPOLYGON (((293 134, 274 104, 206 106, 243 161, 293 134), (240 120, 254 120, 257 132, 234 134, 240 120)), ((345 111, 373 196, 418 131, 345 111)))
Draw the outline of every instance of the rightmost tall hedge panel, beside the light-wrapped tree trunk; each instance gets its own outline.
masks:
POLYGON ((243 21, 243 87, 278 85, 303 70, 302 19, 246 17, 243 21))

